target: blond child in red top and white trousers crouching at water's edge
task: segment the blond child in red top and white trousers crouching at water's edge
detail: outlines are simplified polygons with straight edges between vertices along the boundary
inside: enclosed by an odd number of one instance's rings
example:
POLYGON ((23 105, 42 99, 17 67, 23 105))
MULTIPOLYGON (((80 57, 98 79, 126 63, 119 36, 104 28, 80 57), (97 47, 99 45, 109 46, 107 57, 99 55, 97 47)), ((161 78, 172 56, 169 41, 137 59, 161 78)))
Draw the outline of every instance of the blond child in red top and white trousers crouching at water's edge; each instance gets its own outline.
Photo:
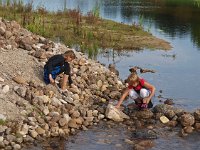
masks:
POLYGON ((116 108, 119 108, 124 99, 129 95, 131 99, 135 101, 135 104, 139 108, 151 108, 153 104, 151 98, 155 94, 155 87, 145 81, 143 78, 140 78, 137 75, 137 72, 132 72, 128 77, 128 87, 125 89, 122 94, 119 102, 116 105, 116 108))

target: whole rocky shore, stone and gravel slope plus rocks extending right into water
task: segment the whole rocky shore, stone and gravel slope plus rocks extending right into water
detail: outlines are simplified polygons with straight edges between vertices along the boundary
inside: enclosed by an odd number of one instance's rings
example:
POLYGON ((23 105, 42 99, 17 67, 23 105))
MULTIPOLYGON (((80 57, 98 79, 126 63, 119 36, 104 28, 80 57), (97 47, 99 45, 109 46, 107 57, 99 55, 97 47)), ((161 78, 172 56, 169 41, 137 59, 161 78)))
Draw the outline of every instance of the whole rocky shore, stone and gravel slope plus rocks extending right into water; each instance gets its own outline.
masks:
MULTIPOLYGON (((75 52, 73 84, 68 91, 44 84, 47 59, 67 50, 65 45, 32 34, 15 21, 0 18, 0 149, 22 149, 40 138, 66 137, 100 120, 110 120, 106 107, 119 99, 124 84, 103 64, 75 52)), ((125 112, 130 119, 123 123, 131 131, 178 126, 186 136, 200 130, 200 109, 191 113, 159 104, 152 110, 128 107, 125 112)), ((145 149, 149 144, 127 143, 134 149, 145 149)))

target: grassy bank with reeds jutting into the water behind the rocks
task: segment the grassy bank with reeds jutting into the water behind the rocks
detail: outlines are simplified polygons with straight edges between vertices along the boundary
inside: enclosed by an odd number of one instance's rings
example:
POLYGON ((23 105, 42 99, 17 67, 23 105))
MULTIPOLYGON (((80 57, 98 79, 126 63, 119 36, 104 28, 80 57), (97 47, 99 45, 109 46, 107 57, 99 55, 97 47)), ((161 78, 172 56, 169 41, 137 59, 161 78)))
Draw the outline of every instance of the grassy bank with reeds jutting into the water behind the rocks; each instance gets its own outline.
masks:
MULTIPOLYGON (((44 8, 33 10, 32 4, 10 1, 0 5, 0 16, 16 20, 33 33, 59 40, 71 47, 79 45, 82 52, 95 56, 99 48, 141 49, 156 48, 138 37, 152 37, 141 25, 125 25, 99 18, 98 8, 83 16, 79 10, 48 12, 44 8)), ((145 40, 145 39, 144 39, 145 40)))

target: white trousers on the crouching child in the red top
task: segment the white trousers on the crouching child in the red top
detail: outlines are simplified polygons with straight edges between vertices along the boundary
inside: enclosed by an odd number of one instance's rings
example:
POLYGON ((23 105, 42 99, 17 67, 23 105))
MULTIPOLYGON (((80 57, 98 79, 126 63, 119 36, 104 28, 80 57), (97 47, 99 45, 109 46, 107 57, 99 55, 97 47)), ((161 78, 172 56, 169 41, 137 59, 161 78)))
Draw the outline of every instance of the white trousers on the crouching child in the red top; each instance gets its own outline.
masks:
POLYGON ((142 88, 139 94, 134 89, 129 91, 129 96, 131 99, 145 98, 148 97, 149 95, 150 91, 145 88, 142 88))

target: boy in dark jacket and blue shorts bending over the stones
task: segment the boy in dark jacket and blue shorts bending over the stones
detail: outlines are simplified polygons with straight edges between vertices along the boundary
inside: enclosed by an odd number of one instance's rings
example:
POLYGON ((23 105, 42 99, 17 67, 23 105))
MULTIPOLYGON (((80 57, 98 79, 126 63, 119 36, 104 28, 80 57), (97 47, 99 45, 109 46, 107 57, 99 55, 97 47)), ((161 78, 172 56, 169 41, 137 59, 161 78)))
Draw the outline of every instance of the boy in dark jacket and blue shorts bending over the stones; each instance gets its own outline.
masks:
POLYGON ((63 74, 60 82, 62 90, 67 88, 67 83, 71 85, 72 79, 70 75, 70 64, 76 58, 72 50, 66 51, 64 54, 54 55, 46 62, 44 66, 44 81, 46 84, 55 85, 55 79, 58 75, 63 74))

